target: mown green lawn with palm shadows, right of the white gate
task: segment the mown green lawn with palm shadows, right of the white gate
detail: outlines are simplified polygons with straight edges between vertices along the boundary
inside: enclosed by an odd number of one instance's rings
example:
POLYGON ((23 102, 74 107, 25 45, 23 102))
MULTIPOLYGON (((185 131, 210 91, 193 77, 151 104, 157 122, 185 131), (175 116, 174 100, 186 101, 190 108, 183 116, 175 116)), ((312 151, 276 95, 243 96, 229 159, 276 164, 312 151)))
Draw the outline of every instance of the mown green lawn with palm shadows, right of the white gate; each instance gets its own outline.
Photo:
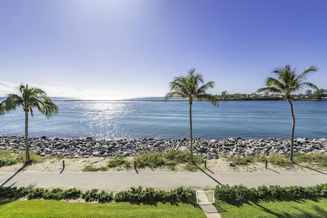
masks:
POLYGON ((298 201, 258 201, 231 205, 218 201, 218 212, 227 217, 327 217, 327 199, 298 201))

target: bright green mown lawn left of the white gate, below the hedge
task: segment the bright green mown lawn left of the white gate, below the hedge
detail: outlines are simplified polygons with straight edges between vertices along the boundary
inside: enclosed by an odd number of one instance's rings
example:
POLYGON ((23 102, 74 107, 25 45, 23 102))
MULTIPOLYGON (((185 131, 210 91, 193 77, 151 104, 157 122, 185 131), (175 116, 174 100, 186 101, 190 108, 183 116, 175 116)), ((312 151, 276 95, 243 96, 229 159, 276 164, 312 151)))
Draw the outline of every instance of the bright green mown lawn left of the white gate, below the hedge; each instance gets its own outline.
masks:
POLYGON ((169 203, 69 203, 54 200, 2 201, 0 217, 203 217, 201 208, 169 203), (142 214, 142 215, 141 215, 142 214))

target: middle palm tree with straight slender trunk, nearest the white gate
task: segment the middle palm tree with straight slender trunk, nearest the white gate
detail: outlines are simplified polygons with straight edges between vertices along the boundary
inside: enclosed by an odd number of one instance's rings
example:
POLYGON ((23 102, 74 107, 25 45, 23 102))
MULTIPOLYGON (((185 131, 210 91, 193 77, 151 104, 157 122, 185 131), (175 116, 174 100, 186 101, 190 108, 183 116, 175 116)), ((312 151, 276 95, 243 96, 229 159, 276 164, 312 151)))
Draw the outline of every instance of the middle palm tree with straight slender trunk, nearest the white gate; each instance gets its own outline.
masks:
POLYGON ((193 159, 193 139, 192 139, 192 103, 193 101, 206 101, 212 103, 215 107, 219 107, 219 101, 216 96, 207 94, 206 90, 214 87, 214 82, 210 81, 202 86, 203 76, 195 69, 190 69, 187 76, 180 75, 175 77, 173 82, 170 82, 170 91, 165 95, 165 101, 172 98, 182 98, 190 103, 190 150, 191 162, 193 159))

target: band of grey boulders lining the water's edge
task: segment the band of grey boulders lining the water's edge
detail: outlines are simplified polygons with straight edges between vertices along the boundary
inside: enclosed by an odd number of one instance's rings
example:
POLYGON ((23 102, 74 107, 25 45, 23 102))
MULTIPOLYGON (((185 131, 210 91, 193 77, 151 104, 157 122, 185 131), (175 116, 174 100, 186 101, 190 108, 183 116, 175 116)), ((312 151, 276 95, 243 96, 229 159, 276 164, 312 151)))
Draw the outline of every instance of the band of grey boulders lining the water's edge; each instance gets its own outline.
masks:
MULTIPOLYGON (((87 138, 29 138, 30 151, 41 156, 61 156, 74 158, 87 157, 126 157, 140 152, 168 150, 188 151, 190 140, 183 139, 94 139, 87 138)), ((229 156, 253 156, 255 154, 290 152, 290 139, 278 138, 243 139, 228 138, 223 140, 194 139, 194 154, 206 159, 217 159, 219 154, 229 156)), ((10 149, 14 153, 25 151, 25 137, 0 135, 0 149, 10 149)), ((294 139, 294 152, 327 152, 327 139, 294 139)))

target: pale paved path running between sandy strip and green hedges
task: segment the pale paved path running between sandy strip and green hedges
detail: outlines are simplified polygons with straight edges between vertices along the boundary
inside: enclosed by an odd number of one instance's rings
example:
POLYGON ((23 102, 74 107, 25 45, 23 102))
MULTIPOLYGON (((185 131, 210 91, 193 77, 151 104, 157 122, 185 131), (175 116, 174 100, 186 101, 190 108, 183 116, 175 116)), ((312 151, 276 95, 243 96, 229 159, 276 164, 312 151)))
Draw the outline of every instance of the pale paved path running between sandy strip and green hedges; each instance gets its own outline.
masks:
POLYGON ((1 172, 0 186, 81 188, 126 190, 130 187, 174 189, 179 186, 193 189, 214 188, 218 184, 257 187, 260 185, 313 186, 327 183, 325 172, 1 172))

